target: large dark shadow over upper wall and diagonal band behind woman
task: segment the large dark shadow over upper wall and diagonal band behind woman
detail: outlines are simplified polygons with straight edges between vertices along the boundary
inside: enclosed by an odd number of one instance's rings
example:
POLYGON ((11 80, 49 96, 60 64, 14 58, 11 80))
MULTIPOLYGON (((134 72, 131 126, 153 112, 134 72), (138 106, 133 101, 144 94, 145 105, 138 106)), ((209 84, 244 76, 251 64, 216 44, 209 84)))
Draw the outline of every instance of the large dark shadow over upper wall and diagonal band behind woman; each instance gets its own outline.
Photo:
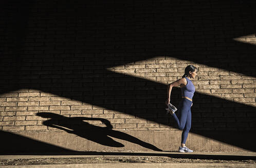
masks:
MULTIPOLYGON (((2 94, 36 89, 175 126, 164 112, 166 85, 106 69, 164 55, 255 76, 255 46, 233 40, 255 33, 254 1, 0 6, 2 94)), ((172 102, 179 98, 174 90, 172 102)), ((255 140, 254 107, 199 93, 194 102, 191 132, 256 151, 255 144, 248 146, 255 140)))

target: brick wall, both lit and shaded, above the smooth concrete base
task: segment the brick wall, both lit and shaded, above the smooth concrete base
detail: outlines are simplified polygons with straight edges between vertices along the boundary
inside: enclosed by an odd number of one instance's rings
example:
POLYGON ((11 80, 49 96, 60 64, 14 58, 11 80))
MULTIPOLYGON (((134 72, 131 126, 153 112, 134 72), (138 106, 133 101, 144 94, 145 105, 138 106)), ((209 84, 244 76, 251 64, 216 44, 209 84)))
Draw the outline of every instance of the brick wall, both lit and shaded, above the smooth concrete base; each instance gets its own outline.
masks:
POLYGON ((173 129, 166 87, 190 64, 192 131, 255 130, 253 5, 1 2, 0 130, 101 130, 103 119, 115 130, 173 129))

